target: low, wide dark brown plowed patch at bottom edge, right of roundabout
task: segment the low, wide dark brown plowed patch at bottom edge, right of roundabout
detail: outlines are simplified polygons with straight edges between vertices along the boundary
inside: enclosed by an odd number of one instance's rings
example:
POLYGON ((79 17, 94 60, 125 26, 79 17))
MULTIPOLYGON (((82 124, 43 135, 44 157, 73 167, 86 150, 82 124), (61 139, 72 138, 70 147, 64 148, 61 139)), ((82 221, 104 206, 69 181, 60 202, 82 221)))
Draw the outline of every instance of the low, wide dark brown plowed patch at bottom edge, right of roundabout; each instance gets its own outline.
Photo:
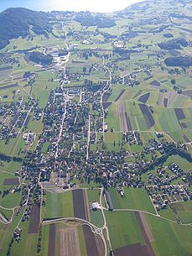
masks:
POLYGON ((149 256, 148 248, 146 245, 134 243, 129 246, 117 248, 113 251, 115 256, 149 256))

